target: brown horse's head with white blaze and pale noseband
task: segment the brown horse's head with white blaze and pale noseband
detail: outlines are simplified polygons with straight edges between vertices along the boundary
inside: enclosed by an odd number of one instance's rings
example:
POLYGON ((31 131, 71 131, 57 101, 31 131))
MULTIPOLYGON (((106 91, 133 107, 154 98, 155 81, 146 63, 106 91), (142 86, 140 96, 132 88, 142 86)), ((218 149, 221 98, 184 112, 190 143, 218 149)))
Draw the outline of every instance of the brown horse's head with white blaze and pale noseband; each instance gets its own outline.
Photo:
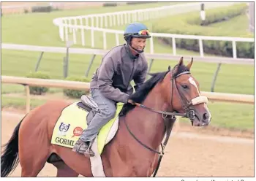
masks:
POLYGON ((181 58, 173 70, 166 74, 162 86, 173 111, 187 113, 192 126, 208 126, 211 121, 208 99, 200 95, 199 83, 190 72, 192 63, 193 59, 185 66, 181 58))

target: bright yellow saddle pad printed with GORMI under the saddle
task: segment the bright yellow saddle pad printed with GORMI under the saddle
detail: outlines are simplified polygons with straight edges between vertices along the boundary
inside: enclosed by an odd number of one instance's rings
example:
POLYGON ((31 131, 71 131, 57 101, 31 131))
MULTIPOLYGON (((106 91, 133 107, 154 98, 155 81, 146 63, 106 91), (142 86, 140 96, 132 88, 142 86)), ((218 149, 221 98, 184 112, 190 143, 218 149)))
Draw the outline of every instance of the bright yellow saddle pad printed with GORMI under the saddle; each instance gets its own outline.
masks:
MULTIPOLYGON (((77 104, 78 102, 75 102, 62 110, 53 129, 53 136, 50 142, 51 144, 72 148, 74 147, 75 142, 78 141, 83 129, 87 128, 86 116, 89 112, 81 109, 77 104)), ((99 131, 97 138, 99 154, 102 153, 110 129, 118 117, 123 105, 124 104, 122 103, 117 104, 115 118, 105 124, 105 126, 103 126, 99 131)))

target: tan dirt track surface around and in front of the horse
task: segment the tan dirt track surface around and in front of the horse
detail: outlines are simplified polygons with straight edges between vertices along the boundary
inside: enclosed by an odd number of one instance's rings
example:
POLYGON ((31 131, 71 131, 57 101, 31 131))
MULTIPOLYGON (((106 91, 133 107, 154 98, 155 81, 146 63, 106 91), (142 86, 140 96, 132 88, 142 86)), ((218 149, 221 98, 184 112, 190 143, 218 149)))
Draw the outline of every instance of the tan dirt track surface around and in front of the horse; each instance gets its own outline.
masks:
MULTIPOLYGON (((10 139, 20 112, 2 112, 1 144, 10 139)), ((55 177, 46 163, 39 177, 55 177)), ((158 177, 254 177, 253 139, 178 132, 170 137, 158 177)), ((20 177, 20 165, 10 177, 20 177)))

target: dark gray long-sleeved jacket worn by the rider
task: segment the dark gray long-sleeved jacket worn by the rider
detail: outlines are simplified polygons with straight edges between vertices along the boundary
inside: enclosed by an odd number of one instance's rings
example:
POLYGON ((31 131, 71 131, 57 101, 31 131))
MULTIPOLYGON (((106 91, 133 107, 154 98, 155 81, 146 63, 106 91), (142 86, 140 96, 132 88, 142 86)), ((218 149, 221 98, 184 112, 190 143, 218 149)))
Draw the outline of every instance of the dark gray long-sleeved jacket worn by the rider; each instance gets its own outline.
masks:
POLYGON ((108 99, 126 103, 133 93, 130 82, 134 80, 135 90, 146 80, 148 63, 144 53, 134 56, 129 47, 119 45, 113 47, 103 58, 94 73, 91 88, 98 88, 108 99))

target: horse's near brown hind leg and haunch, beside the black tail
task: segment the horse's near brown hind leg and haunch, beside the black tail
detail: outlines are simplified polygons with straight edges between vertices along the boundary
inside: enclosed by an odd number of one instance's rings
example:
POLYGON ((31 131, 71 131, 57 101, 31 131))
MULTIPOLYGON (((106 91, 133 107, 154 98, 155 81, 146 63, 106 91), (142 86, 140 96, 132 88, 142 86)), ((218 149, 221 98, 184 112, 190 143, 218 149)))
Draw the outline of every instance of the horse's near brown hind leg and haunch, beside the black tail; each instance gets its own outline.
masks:
POLYGON ((37 177, 51 153, 48 118, 37 110, 32 110, 20 125, 18 149, 21 177, 37 177))

